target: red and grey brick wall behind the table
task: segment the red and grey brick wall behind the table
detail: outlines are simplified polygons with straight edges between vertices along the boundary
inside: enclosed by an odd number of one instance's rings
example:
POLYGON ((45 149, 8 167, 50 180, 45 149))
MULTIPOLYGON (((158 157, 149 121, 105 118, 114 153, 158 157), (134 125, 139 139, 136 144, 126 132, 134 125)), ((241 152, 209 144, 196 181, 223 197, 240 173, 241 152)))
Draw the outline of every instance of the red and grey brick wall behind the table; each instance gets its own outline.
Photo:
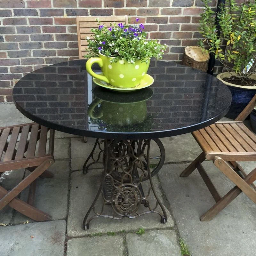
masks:
POLYGON ((202 10, 200 0, 1 0, 0 102, 12 101, 26 73, 78 58, 76 15, 139 17, 149 38, 168 45, 164 60, 179 61, 197 44, 202 10))

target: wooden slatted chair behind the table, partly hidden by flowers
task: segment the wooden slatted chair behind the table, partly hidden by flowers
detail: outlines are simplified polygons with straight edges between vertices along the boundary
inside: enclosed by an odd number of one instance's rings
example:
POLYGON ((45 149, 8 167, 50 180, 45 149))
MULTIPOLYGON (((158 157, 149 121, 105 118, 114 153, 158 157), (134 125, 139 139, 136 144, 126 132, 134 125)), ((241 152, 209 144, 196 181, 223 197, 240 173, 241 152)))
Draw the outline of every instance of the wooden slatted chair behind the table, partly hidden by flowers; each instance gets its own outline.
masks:
MULTIPOLYGON (((99 18, 102 25, 110 27, 110 23, 128 23, 128 16, 76 16, 76 28, 77 28, 77 40, 78 40, 78 52, 79 60, 84 59, 84 55, 87 54, 88 43, 86 37, 92 38, 91 28, 97 28, 99 18)), ((84 137, 84 142, 87 142, 87 138, 84 137)))

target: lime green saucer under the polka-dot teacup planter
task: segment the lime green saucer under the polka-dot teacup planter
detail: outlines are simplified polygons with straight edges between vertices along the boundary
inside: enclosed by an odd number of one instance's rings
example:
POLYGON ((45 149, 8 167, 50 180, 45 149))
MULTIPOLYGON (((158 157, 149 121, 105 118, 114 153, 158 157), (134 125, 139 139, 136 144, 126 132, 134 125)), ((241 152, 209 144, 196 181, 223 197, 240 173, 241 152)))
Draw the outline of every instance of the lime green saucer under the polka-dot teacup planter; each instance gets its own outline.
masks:
MULTIPOLYGON (((103 75, 102 73, 100 73, 99 75, 103 75)), ((143 88, 146 88, 148 86, 150 86, 151 84, 154 83, 154 78, 148 74, 145 74, 145 76, 142 78, 140 84, 137 84, 136 86, 132 87, 132 88, 119 88, 119 87, 114 87, 110 84, 107 84, 104 81, 101 81, 95 77, 92 78, 92 81, 95 84, 100 85, 101 87, 107 88, 109 90, 113 90, 113 91, 119 91, 119 92, 132 92, 132 91, 136 91, 136 90, 140 90, 143 88)))

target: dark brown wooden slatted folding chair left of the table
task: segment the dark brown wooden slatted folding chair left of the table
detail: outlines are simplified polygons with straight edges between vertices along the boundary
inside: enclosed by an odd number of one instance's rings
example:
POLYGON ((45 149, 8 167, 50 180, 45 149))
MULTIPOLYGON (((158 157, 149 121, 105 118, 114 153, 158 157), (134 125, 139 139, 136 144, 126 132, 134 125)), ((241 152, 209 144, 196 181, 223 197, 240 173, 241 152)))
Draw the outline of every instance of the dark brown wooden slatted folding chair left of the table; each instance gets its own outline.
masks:
POLYGON ((33 206, 36 179, 51 178, 46 171, 54 163, 54 130, 50 130, 49 148, 46 152, 48 128, 36 123, 13 125, 0 128, 0 176, 6 171, 26 168, 29 175, 12 190, 0 186, 0 210, 9 205, 29 218, 42 221, 51 216, 33 206), (20 136, 20 137, 19 137, 20 136), (19 141, 18 141, 19 138, 19 141), (38 150, 37 149, 38 146, 38 150), (3 152, 5 154, 3 154, 3 152), (29 187, 27 203, 17 198, 22 190, 29 187))

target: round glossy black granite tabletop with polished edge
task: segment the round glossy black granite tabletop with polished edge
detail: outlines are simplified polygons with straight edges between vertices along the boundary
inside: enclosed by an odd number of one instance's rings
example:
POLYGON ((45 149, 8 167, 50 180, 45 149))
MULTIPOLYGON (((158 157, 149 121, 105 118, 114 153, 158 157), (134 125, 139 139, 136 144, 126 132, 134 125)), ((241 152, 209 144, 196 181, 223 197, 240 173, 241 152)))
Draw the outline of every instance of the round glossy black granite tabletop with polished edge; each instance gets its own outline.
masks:
MULTIPOLYGON (((154 139, 193 132, 223 117, 231 103, 217 78, 175 62, 151 61, 154 83, 114 92, 92 81, 86 60, 27 74, 13 88, 20 112, 49 128, 103 139, 154 139)), ((94 67, 95 72, 98 66, 94 67)))

